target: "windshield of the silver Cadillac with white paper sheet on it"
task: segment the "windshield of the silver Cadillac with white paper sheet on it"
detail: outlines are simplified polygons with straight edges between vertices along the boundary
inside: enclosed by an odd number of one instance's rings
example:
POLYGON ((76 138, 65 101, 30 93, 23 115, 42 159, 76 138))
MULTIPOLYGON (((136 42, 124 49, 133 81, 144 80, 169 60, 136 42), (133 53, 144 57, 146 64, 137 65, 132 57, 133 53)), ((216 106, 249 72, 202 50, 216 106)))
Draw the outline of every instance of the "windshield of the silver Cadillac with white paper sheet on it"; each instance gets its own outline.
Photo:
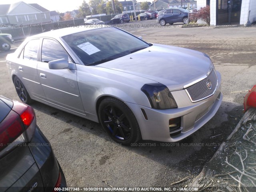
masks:
POLYGON ((84 65, 99 64, 99 61, 106 62, 150 46, 114 27, 97 28, 62 38, 84 65))

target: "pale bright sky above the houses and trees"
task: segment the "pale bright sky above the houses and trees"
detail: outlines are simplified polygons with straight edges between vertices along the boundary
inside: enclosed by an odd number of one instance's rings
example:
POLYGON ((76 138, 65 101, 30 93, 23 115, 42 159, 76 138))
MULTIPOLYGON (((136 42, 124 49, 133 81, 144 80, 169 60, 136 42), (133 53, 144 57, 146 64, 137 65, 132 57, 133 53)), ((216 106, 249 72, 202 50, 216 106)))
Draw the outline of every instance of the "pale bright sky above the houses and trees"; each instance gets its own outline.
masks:
MULTIPOLYGON (((21 0, 0 0, 0 4, 12 4, 19 2, 21 0)), ((82 4, 83 0, 22 0, 25 3, 37 3, 40 6, 48 9, 49 11, 59 11, 66 12, 78 9, 78 7, 82 4)), ((144 1, 144 0, 142 0, 144 1)), ((88 3, 89 0, 86 0, 88 3)), ((150 1, 151 2, 151 1, 150 1)))

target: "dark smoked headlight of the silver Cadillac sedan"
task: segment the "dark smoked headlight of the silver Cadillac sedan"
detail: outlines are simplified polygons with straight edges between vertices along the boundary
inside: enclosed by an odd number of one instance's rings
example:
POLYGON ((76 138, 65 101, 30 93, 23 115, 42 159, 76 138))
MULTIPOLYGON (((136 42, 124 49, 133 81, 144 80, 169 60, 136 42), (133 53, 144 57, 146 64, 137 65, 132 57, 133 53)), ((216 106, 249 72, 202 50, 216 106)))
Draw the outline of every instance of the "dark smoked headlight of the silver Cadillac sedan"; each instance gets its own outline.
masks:
POLYGON ((169 89, 161 83, 145 84, 141 90, 148 97, 152 108, 170 109, 178 107, 169 89))

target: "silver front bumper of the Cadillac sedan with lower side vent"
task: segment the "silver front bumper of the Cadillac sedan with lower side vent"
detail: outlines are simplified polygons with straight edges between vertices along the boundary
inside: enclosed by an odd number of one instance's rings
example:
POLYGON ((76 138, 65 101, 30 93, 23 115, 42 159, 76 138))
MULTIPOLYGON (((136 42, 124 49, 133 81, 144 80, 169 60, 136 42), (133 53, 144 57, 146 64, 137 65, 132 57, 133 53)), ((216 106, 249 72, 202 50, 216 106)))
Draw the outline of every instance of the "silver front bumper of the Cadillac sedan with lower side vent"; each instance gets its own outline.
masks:
POLYGON ((222 102, 221 76, 218 77, 218 86, 215 93, 196 103, 192 103, 185 90, 173 94, 174 98, 180 97, 177 102, 179 108, 158 110, 126 103, 137 117, 143 140, 156 140, 161 142, 178 142, 206 124, 218 111, 222 102), (145 111, 148 120, 144 117, 142 109, 145 111), (181 117, 180 133, 173 135, 170 132, 169 120, 181 117))

